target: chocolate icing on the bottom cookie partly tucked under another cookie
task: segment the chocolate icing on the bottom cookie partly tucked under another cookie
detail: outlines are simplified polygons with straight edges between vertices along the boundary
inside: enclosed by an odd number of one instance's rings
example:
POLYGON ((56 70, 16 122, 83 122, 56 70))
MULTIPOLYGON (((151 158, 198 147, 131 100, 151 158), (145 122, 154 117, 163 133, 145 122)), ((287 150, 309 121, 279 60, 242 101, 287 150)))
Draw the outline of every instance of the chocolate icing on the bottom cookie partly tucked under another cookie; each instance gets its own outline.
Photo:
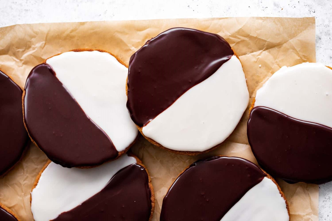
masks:
POLYGON ((149 180, 143 167, 120 170, 100 192, 53 221, 148 221, 151 214, 149 180))

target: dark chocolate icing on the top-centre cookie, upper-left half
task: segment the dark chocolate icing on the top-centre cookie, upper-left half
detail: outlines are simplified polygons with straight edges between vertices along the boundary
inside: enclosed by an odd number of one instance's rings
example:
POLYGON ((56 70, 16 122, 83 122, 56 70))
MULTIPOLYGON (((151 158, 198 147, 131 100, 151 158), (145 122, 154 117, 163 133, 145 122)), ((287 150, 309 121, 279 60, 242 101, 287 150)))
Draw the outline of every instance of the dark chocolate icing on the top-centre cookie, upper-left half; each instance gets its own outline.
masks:
POLYGON ((130 57, 127 108, 143 126, 234 55, 227 41, 212 33, 169 29, 130 57))

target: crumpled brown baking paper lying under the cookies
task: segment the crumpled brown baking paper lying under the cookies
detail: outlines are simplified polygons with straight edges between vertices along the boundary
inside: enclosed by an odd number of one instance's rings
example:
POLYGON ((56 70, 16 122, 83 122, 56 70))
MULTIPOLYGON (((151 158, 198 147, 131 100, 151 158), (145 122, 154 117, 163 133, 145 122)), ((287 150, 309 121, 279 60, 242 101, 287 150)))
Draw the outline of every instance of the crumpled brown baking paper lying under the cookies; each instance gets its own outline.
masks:
MULTIPOLYGON (((30 70, 44 59, 75 48, 104 49, 128 64, 130 55, 148 39, 172 27, 195 28, 224 37, 239 56, 253 99, 268 77, 284 65, 315 62, 314 18, 214 18, 108 21, 15 25, 0 29, 0 69, 22 88, 30 70)), ((249 107, 249 105, 248 105, 249 107)), ((153 221, 178 174, 195 160, 211 155, 240 156, 255 163, 248 145, 248 110, 230 137, 200 156, 169 153, 143 137, 132 147, 146 165, 155 190, 153 221)), ((0 178, 0 202, 22 220, 33 220, 30 191, 46 156, 34 145, 7 175, 0 178)), ((278 181, 290 205, 291 221, 318 220, 318 186, 278 181)))

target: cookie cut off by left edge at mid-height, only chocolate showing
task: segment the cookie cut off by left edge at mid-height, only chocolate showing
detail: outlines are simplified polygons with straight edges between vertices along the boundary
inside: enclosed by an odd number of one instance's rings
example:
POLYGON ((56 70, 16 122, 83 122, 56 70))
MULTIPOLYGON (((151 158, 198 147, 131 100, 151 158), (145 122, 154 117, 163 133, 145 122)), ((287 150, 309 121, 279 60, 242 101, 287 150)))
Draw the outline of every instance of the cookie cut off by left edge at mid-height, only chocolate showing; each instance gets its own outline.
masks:
POLYGON ((0 118, 0 175, 3 175, 21 159, 29 136, 23 124, 22 90, 1 70, 0 118))

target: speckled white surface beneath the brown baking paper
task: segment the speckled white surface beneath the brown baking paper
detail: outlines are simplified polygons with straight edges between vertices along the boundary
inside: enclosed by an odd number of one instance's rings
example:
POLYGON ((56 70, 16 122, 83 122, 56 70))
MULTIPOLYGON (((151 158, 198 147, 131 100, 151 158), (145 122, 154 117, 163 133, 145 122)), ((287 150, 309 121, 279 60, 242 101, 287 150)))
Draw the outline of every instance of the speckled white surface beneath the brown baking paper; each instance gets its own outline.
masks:
MULTIPOLYGON (((332 66, 331 0, 0 0, 0 27, 158 18, 316 17, 316 57, 332 66)), ((332 220, 332 182, 319 186, 319 220, 332 220)))

